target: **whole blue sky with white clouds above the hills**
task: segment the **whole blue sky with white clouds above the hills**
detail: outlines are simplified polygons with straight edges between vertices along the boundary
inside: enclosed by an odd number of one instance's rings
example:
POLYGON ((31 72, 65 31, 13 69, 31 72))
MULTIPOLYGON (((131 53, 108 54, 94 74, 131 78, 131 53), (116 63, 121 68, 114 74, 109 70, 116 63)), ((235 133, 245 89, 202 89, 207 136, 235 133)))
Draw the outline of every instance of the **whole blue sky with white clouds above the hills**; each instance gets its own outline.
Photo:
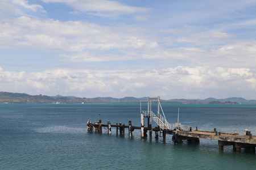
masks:
POLYGON ((254 0, 0 0, 0 91, 256 99, 255 8, 254 0))

